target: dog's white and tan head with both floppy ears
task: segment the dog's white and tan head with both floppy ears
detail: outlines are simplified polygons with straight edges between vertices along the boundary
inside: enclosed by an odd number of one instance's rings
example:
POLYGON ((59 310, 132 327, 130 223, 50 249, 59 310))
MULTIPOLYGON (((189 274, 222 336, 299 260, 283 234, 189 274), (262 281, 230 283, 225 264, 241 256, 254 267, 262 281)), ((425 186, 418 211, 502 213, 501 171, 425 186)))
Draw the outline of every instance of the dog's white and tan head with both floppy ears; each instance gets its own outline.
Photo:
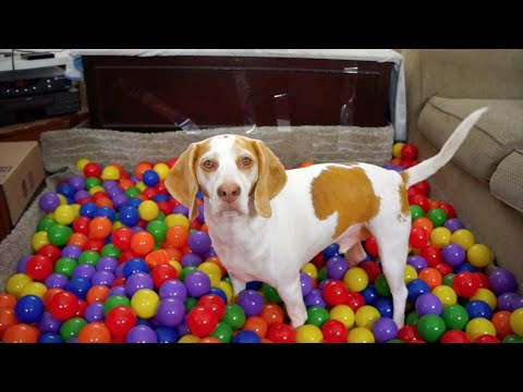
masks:
POLYGON ((198 186, 214 216, 248 215, 252 199, 256 212, 269 218, 269 200, 285 183, 285 170, 275 154, 262 140, 238 135, 191 144, 166 179, 167 189, 188 208, 191 220, 198 213, 194 200, 198 186))

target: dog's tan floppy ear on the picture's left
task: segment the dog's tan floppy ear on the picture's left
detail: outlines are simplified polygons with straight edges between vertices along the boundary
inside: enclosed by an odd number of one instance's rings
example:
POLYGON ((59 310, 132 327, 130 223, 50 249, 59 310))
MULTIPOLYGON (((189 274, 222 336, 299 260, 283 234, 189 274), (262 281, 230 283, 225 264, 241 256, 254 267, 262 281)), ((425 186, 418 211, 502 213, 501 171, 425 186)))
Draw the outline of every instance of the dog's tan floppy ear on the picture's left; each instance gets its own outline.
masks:
POLYGON ((191 144, 171 168, 166 179, 166 188, 180 204, 188 208, 188 220, 198 216, 198 207, 194 200, 198 192, 196 180, 196 154, 198 144, 191 144))

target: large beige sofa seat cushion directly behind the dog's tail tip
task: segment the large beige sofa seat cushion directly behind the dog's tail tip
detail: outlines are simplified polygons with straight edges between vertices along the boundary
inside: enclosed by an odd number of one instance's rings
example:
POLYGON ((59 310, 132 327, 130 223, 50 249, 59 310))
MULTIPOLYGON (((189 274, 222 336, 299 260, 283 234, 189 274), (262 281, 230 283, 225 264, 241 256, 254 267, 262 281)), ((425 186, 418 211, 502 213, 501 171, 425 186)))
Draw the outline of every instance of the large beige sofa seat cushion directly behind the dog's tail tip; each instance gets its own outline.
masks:
POLYGON ((454 99, 433 97, 422 110, 418 130, 438 149, 471 112, 487 111, 460 147, 453 162, 488 184, 498 164, 523 148, 523 99, 454 99))

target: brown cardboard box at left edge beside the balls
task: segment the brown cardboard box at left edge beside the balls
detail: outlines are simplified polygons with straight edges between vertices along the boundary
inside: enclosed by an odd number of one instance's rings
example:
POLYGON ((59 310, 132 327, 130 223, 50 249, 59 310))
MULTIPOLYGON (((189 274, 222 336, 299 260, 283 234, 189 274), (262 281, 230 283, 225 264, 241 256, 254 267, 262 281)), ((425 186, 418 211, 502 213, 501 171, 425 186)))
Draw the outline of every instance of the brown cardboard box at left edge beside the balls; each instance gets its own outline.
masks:
POLYGON ((37 142, 0 143, 0 240, 16 224, 45 177, 37 142))

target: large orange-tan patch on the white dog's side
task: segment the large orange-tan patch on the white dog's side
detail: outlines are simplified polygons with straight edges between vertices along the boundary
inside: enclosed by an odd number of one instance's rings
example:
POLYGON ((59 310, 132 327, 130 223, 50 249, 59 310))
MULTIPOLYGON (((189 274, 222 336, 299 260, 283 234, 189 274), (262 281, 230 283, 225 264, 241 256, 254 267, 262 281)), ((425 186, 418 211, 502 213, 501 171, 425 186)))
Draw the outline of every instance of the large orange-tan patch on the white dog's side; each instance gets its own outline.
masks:
POLYGON ((380 199, 361 168, 329 167, 313 180, 311 193, 318 219, 325 220, 338 212, 332 238, 354 223, 368 222, 379 210, 380 199))

